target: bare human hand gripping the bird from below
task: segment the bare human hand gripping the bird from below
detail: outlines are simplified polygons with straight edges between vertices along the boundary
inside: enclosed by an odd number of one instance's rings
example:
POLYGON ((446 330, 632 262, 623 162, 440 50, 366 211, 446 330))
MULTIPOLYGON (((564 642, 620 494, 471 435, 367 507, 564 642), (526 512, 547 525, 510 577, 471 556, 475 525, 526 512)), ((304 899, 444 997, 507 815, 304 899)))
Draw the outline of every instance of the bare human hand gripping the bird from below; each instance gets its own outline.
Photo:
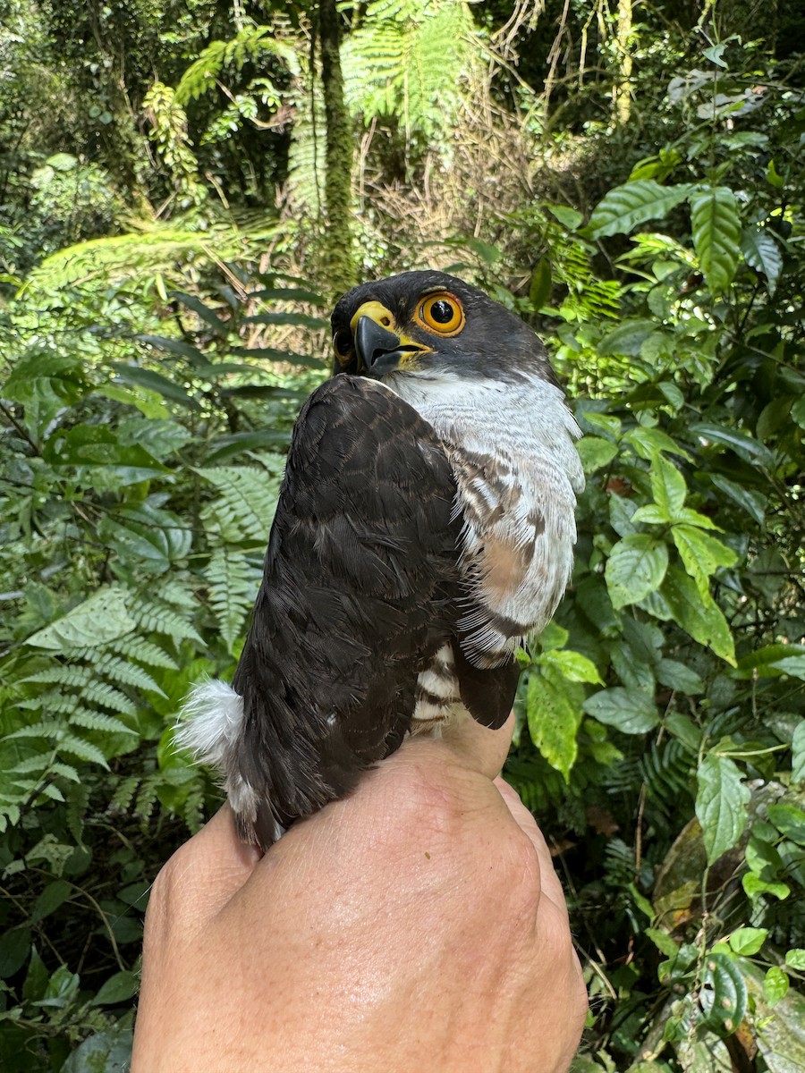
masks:
POLYGON ((262 858, 221 809, 153 885, 132 1073, 564 1073, 587 998, 510 735, 409 739, 262 858))

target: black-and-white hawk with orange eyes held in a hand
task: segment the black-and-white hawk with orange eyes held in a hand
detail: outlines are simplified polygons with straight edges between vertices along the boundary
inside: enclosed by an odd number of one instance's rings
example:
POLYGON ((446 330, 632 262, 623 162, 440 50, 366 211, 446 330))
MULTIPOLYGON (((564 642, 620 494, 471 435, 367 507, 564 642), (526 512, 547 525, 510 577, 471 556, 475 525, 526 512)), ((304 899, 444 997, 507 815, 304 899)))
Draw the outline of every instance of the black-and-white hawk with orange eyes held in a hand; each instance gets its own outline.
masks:
POLYGON ((502 725, 584 484, 543 344, 482 291, 404 273, 350 291, 332 325, 232 686, 196 687, 179 731, 263 849, 407 733, 502 725))

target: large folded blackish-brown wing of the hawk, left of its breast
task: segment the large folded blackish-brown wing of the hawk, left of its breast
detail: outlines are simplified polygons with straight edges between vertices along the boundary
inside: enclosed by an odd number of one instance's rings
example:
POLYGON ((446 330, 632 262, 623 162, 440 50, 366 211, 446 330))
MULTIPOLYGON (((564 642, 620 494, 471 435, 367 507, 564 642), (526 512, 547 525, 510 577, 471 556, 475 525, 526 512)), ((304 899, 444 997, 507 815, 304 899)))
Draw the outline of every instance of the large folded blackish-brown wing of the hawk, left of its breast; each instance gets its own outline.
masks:
POLYGON ((234 768, 257 802, 241 836, 269 846, 402 740, 456 619, 454 496, 433 427, 398 396, 347 376, 311 395, 233 681, 234 768))

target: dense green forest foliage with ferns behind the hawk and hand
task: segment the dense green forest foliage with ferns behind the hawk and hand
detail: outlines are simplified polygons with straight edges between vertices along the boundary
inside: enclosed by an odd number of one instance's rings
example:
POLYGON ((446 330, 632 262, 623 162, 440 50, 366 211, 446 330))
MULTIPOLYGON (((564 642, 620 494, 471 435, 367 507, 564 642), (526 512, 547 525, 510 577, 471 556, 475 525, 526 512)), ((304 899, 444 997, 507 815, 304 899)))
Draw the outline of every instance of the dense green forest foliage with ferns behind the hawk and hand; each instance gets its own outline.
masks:
MULTIPOLYGON (((805 1069, 795 0, 0 0, 0 1067, 127 1068, 173 747, 353 281, 452 269, 585 432, 507 774, 580 1073, 805 1069)), ((504 415, 502 415, 504 420, 504 415)))

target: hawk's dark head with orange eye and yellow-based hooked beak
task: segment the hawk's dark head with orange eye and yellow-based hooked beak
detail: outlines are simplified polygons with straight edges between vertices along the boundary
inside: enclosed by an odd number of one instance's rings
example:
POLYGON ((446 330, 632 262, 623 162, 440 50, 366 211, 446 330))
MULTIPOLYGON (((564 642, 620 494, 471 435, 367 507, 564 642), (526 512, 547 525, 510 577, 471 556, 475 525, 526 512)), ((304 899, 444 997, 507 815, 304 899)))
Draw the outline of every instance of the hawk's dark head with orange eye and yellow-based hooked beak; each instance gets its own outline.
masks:
POLYGON ((533 332, 483 291, 442 271, 362 283, 333 317, 334 373, 555 382, 533 332))

